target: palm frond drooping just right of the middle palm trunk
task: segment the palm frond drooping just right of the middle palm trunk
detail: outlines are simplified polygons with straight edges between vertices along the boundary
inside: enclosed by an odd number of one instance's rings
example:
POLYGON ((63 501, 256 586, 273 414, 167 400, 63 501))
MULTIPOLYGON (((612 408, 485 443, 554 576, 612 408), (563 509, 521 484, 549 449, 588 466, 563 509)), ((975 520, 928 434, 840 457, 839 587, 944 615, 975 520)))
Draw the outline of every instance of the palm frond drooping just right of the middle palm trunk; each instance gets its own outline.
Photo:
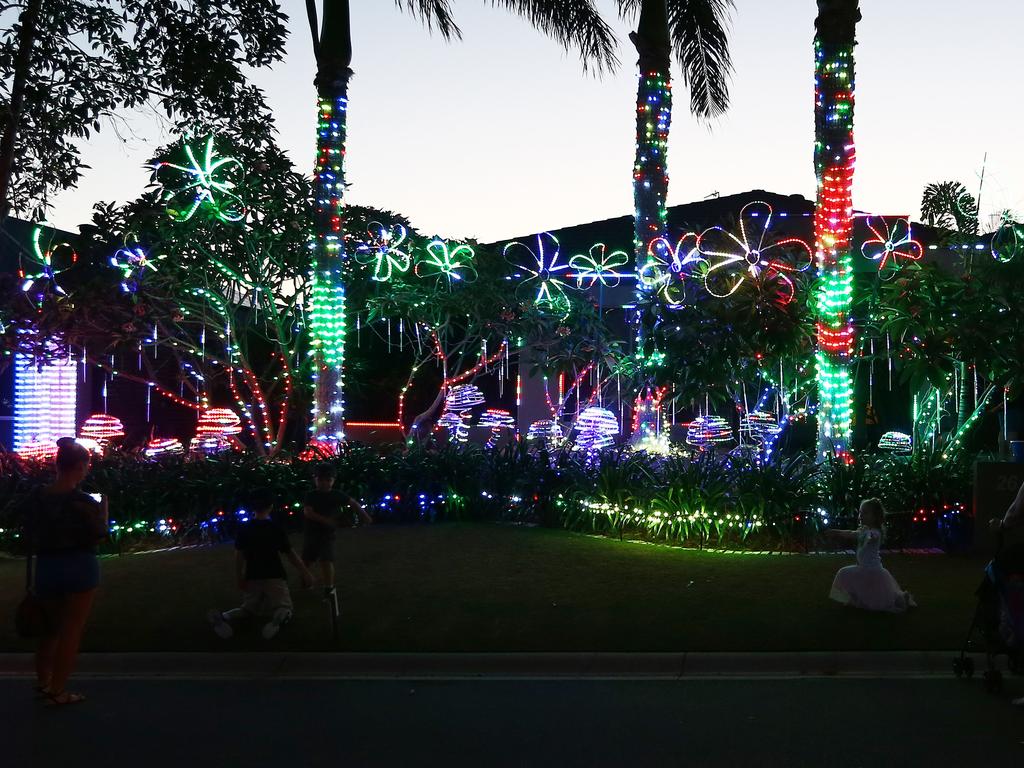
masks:
MULTIPOLYGON (((637 0, 623 0, 635 5, 637 0)), ((733 0, 669 0, 669 33, 683 81, 690 90, 690 112, 716 118, 729 106, 729 15, 733 0)))

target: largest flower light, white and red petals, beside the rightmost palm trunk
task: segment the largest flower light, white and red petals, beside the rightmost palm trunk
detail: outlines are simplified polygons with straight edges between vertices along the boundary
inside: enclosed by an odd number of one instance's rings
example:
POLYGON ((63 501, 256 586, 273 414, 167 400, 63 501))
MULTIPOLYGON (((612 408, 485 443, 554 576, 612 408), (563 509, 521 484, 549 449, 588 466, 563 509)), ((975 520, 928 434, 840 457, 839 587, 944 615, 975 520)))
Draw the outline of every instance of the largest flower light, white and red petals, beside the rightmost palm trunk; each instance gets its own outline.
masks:
POLYGON ((788 304, 796 296, 791 275, 811 266, 811 248, 800 238, 775 240, 771 237, 772 207, 756 201, 739 211, 739 236, 721 226, 705 229, 697 238, 697 250, 705 264, 705 288, 712 296, 731 296, 748 278, 774 281, 775 302, 788 304))

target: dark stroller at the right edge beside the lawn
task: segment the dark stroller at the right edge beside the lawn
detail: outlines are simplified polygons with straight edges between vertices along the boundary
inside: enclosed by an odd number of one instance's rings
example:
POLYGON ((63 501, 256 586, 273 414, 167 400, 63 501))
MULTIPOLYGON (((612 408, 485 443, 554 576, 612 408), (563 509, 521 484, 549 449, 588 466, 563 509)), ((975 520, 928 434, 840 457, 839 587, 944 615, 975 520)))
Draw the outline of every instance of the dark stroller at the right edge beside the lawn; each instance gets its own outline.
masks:
POLYGON ((999 655, 1015 675, 1024 673, 1024 545, 1004 546, 1000 535, 995 557, 985 566, 985 575, 975 591, 978 605, 959 655, 953 658, 956 677, 974 676, 972 650, 983 650, 985 688, 991 693, 1002 689, 1002 673, 995 667, 999 655), (975 645, 975 634, 981 647, 975 645))

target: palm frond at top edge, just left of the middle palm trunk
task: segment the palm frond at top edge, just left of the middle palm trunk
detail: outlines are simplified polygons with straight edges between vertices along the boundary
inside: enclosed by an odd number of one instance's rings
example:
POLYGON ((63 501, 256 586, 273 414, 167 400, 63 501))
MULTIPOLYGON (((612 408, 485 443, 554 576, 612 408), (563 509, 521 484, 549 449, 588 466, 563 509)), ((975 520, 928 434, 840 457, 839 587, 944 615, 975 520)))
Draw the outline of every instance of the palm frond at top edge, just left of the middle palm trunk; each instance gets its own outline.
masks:
POLYGON ((565 50, 580 51, 584 70, 609 71, 618 65, 616 40, 593 0, 490 0, 522 16, 565 50))

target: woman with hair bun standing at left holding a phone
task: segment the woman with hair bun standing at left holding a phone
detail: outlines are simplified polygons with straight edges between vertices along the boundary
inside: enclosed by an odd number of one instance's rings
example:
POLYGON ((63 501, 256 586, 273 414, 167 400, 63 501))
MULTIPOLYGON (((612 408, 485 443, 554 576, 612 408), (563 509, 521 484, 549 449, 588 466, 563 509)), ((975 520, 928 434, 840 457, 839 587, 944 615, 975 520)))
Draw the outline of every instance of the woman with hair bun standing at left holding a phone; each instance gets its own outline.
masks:
POLYGON ((79 489, 89 452, 73 437, 57 440, 56 479, 36 492, 27 527, 36 556, 35 593, 50 627, 36 651, 37 690, 54 706, 84 701, 65 690, 99 586, 96 545, 106 536, 106 499, 79 489))

